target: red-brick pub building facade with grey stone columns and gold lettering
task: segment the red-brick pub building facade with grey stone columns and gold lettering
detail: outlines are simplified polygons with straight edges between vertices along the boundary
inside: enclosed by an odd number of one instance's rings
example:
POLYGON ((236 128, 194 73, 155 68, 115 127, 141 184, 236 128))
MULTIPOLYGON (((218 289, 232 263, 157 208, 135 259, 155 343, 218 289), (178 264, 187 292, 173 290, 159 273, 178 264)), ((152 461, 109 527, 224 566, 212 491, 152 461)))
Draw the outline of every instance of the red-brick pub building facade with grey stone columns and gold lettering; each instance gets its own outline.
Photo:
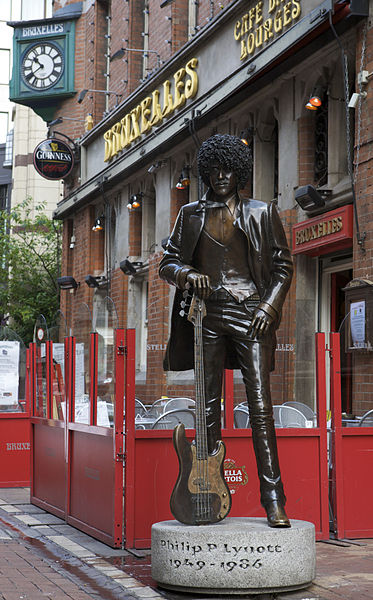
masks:
MULTIPOLYGON (((62 293, 61 310, 74 332, 82 305, 89 307, 94 327, 104 298, 112 298, 119 324, 136 328, 136 393, 146 404, 162 395, 194 394, 191 373, 165 374, 162 369, 172 291, 159 279, 158 265, 162 241, 179 208, 198 198, 200 140, 215 132, 249 138, 252 194, 277 203, 289 245, 296 250, 295 276, 278 331, 274 403, 296 400, 315 408, 314 334, 341 326, 341 290, 348 281, 373 279, 373 33, 368 17, 353 14, 352 2, 334 3, 331 27, 324 4, 84 3, 76 24, 77 94, 61 102, 55 113, 66 117, 58 130, 80 147, 80 162, 65 180, 65 197, 56 211, 56 218, 64 222, 62 275, 80 282, 73 294, 62 293), (344 77, 347 72, 348 94, 358 92, 361 69, 369 73, 361 90, 367 96, 355 111, 348 110, 351 137, 355 133, 356 204, 360 230, 366 233, 365 251, 356 241, 356 231, 338 244, 333 235, 320 234, 316 247, 302 243, 296 249, 294 225, 304 223, 306 229, 310 219, 326 222, 330 211, 353 202, 344 77), (197 87, 190 92, 193 85, 197 87), (309 111, 305 105, 316 88, 321 89, 322 107, 309 111), (78 102, 82 90, 88 91, 78 102), (88 114, 93 128, 85 131, 88 114), (190 186, 181 190, 177 183, 186 166, 190 186), (303 210, 295 193, 309 185, 324 204, 303 210), (134 195, 140 197, 140 207, 129 209, 134 195), (104 230, 93 231, 101 216, 104 230), (135 273, 123 273, 124 260, 134 263, 135 273), (88 274, 102 278, 99 287, 85 285, 88 274)), ((56 1, 54 10, 62 5, 65 2, 56 1)), ((369 5, 372 10, 373 2, 369 5)), ((350 143, 352 147, 353 140, 350 143)), ((361 415, 372 408, 366 400, 371 383, 369 377, 361 382, 357 371, 366 371, 371 357, 356 353, 348 360, 349 368, 351 360, 356 365, 356 376, 344 381, 349 386, 344 410, 361 415)), ((237 403, 243 394, 237 375, 237 403)))

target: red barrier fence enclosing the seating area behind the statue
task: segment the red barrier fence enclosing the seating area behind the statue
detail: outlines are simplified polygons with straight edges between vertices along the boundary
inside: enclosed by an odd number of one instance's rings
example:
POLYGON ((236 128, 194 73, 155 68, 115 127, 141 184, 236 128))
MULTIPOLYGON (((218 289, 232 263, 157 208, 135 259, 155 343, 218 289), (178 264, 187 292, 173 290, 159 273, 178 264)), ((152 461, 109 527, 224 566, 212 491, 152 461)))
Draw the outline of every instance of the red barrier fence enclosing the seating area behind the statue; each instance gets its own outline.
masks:
MULTIPOLYGON (((152 523, 172 518, 169 498, 178 471, 172 430, 136 428, 135 331, 115 331, 115 386, 111 396, 114 414, 110 423, 102 421, 100 398, 104 397, 101 388, 105 381, 97 376, 101 364, 97 333, 90 334, 88 346, 85 362, 89 367, 84 385, 88 383, 89 389, 83 390, 79 369, 86 346, 83 348, 74 337, 65 340, 64 381, 58 382, 60 372, 53 359, 52 343, 46 351, 45 368, 38 364, 42 359, 35 345, 31 345, 32 502, 113 547, 147 548, 152 523), (62 417, 56 401, 61 385, 65 403, 62 417), (84 408, 86 421, 82 422, 83 413, 79 411, 84 408)), ((313 522, 317 539, 328 539, 330 469, 330 507, 337 535, 369 537, 373 525, 369 523, 372 517, 366 474, 373 467, 373 430, 341 427, 338 334, 332 334, 333 418, 328 458, 329 349, 324 334, 316 334, 315 348, 317 422, 310 428, 276 430, 287 512, 290 518, 313 522)), ((108 406, 106 402, 105 410, 108 406)), ((251 429, 234 427, 233 409, 233 374, 227 371, 222 435, 227 448, 225 474, 232 493, 230 516, 264 517, 251 429)), ((189 429, 187 435, 193 439, 194 430, 189 429)))

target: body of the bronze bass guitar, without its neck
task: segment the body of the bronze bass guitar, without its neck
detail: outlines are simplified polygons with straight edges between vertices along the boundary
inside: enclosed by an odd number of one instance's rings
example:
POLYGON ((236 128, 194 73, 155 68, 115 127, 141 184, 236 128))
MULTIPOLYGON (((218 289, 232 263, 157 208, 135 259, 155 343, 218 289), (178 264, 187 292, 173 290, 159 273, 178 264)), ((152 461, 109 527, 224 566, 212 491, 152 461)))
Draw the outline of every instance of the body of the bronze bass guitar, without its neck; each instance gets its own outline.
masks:
POLYGON ((174 429, 173 443, 179 460, 179 475, 170 499, 175 519, 186 525, 221 521, 231 508, 230 492, 224 479, 223 442, 219 440, 214 452, 201 461, 197 458, 196 445, 186 439, 185 427, 180 423, 174 429), (201 469, 207 477, 201 477, 201 469))

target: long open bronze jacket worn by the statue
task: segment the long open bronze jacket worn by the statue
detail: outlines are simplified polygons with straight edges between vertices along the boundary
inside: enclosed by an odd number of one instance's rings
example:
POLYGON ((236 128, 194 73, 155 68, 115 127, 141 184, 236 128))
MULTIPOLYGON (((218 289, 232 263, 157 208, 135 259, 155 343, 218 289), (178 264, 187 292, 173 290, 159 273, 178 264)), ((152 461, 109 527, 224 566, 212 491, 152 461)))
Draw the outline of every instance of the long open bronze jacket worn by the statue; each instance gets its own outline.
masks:
MULTIPOLYGON (((165 370, 193 368, 193 326, 179 312, 187 274, 190 270, 198 270, 193 259, 205 222, 207 199, 208 196, 205 196, 200 202, 192 202, 181 208, 160 263, 160 277, 177 288, 171 335, 164 360, 165 370)), ((277 328, 293 274, 282 222, 274 203, 242 198, 239 202, 234 226, 244 232, 247 240, 248 267, 260 297, 259 308, 276 317, 277 328)), ((275 343, 274 335, 273 350, 275 343)), ((226 368, 238 368, 234 355, 228 354, 226 368)))

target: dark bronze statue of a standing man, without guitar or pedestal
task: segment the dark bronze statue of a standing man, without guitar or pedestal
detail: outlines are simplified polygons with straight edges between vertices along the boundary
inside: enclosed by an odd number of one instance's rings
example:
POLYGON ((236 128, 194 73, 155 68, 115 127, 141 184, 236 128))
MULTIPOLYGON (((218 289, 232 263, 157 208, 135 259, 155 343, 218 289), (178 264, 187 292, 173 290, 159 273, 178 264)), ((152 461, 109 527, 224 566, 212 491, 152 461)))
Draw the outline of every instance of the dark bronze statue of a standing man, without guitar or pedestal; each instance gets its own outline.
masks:
POLYGON ((208 186, 199 202, 182 207, 160 264, 160 277, 176 286, 166 370, 193 368, 193 328, 179 315, 189 283, 205 300, 203 358, 209 452, 221 438, 224 368, 240 368, 252 427, 261 503, 271 527, 290 527, 285 513, 269 375, 276 329, 293 266, 273 203, 241 198, 251 170, 247 145, 214 135, 198 153, 208 186))

